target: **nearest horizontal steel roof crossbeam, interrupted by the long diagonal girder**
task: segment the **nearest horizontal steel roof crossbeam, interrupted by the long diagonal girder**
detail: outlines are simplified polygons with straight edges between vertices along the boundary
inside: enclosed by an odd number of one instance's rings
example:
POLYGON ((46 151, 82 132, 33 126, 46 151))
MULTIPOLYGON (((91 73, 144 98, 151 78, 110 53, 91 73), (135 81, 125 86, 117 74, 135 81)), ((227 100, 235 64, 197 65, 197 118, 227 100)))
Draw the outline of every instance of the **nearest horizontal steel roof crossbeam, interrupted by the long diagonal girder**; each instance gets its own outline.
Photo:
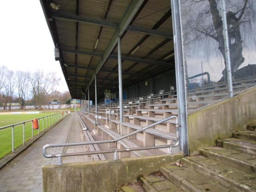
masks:
MULTIPOLYGON (((93 25, 118 28, 118 23, 116 23, 116 22, 107 21, 107 20, 99 20, 99 19, 94 19, 94 18, 90 18, 90 17, 82 17, 79 15, 71 15, 71 14, 54 12, 54 13, 52 13, 52 17, 54 17, 55 19, 71 20, 71 21, 76 21, 76 22, 81 22, 81 23, 89 23, 89 24, 93 24, 93 25)), ((156 36, 160 36, 163 38, 172 38, 172 33, 158 31, 158 30, 154 30, 154 29, 148 29, 145 27, 129 25, 129 26, 127 26, 126 30, 132 31, 132 32, 144 33, 144 34, 148 34, 148 35, 156 35, 156 36)))

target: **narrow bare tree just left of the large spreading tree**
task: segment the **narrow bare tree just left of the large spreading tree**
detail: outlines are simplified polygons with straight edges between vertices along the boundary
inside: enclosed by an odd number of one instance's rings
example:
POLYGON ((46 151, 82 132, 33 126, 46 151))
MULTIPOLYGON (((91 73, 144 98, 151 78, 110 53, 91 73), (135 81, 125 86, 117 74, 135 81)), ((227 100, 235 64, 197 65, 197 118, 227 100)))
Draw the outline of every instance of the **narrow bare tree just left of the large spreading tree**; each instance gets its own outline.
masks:
POLYGON ((20 109, 22 107, 22 102, 24 101, 24 93, 26 92, 29 80, 29 73, 24 71, 17 71, 17 90, 18 90, 18 99, 20 102, 20 109))

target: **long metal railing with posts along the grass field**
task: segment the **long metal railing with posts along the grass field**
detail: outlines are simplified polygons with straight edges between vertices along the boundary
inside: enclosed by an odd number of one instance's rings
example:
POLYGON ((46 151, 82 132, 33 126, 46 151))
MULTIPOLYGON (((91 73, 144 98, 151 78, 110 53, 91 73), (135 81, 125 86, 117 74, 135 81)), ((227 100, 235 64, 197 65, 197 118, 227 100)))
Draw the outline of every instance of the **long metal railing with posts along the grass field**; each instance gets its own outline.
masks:
MULTIPOLYGON (((38 119, 38 135, 40 134, 40 120, 43 119, 43 132, 44 132, 44 119, 46 118, 46 129, 49 127, 48 126, 48 117, 49 117, 49 126, 50 125, 53 125, 54 123, 60 121, 61 119, 61 113, 54 113, 52 115, 48 115, 48 116, 43 116, 43 117, 39 117, 39 118, 35 118, 35 119, 38 119)), ((31 120, 27 120, 27 121, 23 121, 23 122, 19 122, 19 123, 15 123, 15 124, 12 124, 12 125, 6 125, 4 127, 0 127, 0 130, 4 130, 4 129, 7 129, 7 128, 12 128, 12 153, 14 153, 14 150, 15 150, 15 140, 14 140, 14 128, 15 126, 18 126, 18 125, 23 125, 23 145, 25 145, 25 124, 26 123, 29 123, 29 122, 32 122, 32 126, 31 126, 31 132, 32 132, 32 135, 31 135, 31 139, 34 139, 34 129, 33 129, 33 119, 31 120)))

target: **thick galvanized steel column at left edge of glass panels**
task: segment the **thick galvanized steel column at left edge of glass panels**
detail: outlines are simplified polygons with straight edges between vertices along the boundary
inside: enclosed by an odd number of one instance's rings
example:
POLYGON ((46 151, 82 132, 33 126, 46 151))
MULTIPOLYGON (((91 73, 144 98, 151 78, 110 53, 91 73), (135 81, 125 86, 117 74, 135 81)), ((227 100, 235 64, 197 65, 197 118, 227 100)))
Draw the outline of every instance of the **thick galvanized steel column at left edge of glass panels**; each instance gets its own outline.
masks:
POLYGON ((172 29, 175 52, 175 72, 178 104, 178 123, 180 126, 180 149, 184 155, 189 155, 188 131, 187 131, 187 105, 186 84, 183 65, 183 42, 180 17, 180 0, 171 0, 172 29))

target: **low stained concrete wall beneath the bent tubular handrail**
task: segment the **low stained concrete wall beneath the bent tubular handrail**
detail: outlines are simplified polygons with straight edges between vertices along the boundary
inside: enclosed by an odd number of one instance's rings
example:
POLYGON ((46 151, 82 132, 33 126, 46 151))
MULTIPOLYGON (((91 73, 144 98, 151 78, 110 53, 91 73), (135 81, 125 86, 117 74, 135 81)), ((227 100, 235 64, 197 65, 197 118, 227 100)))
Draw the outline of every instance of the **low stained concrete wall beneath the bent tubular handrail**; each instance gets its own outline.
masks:
POLYGON ((44 192, 112 192, 180 157, 175 154, 43 166, 44 192))

